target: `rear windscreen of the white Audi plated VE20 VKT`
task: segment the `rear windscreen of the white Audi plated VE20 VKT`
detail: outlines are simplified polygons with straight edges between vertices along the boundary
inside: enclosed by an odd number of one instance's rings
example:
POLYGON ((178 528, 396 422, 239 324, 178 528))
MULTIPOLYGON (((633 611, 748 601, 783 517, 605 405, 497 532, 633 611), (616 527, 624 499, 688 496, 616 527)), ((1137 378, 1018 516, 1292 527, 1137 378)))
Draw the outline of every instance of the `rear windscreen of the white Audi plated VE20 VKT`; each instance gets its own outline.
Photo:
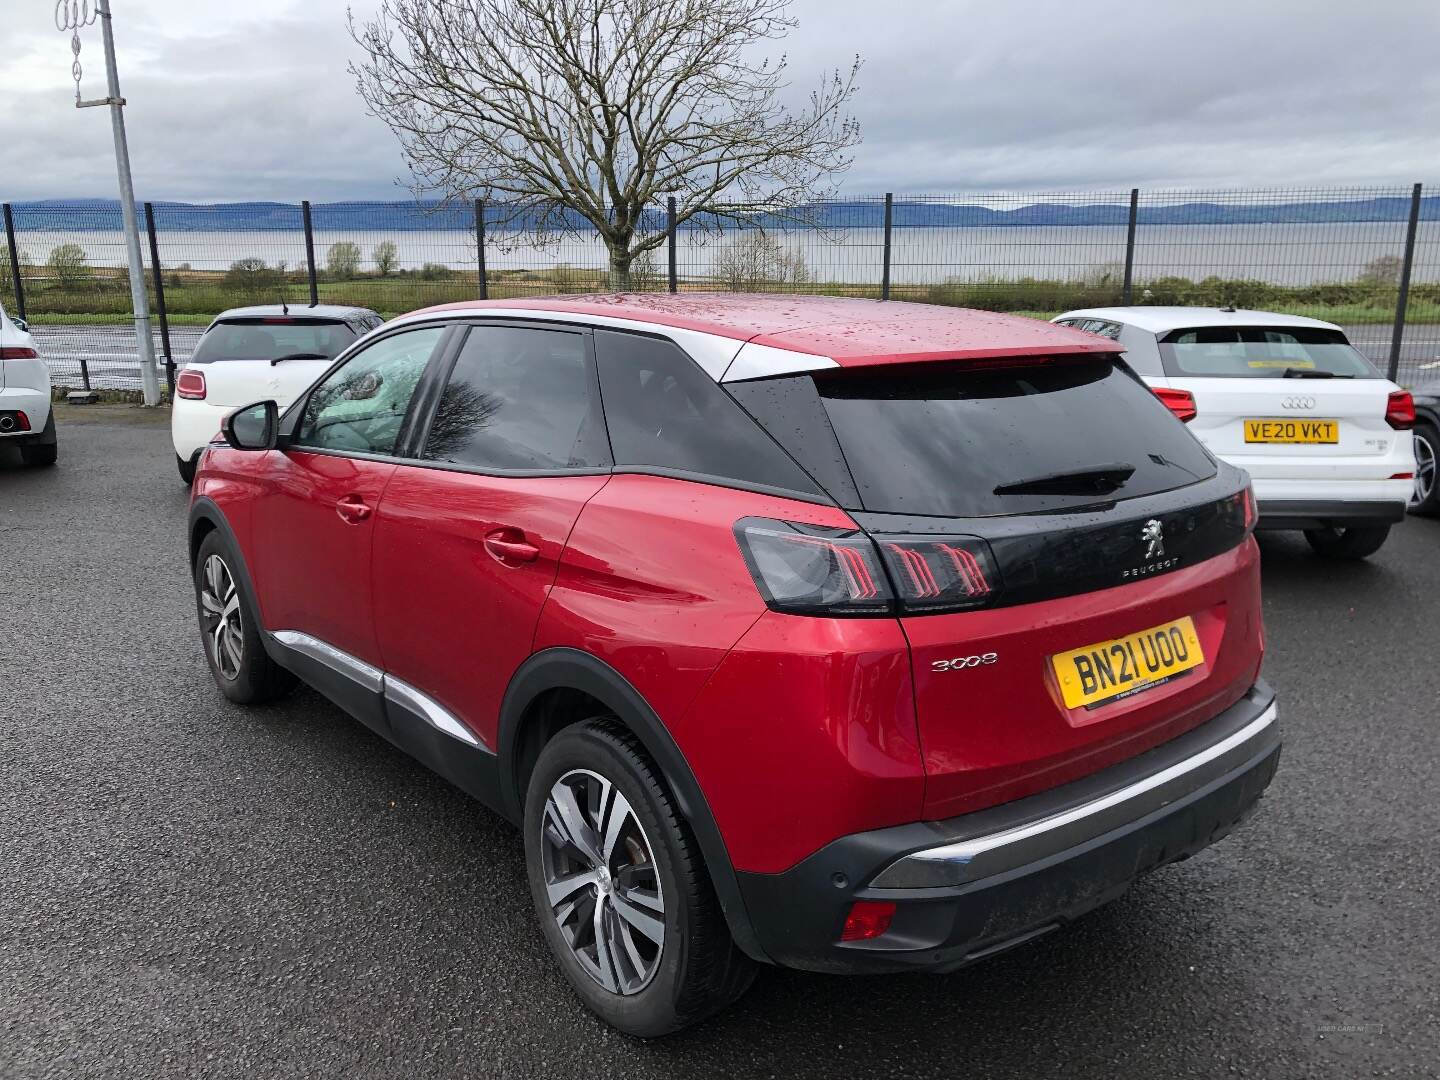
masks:
POLYGON ((1161 338, 1165 373, 1204 379, 1378 379, 1338 330, 1310 327, 1195 327, 1161 338))

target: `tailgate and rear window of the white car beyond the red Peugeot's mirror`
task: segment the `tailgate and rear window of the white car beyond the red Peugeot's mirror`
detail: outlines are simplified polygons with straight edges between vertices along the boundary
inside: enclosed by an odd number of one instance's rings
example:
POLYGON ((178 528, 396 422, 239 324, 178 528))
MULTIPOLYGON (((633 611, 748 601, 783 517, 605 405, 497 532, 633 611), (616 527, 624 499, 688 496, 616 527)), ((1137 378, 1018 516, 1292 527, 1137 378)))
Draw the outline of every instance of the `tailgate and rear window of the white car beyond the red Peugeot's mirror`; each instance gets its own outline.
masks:
POLYGON ((204 333, 190 366, 204 372, 207 405, 239 408, 271 399, 284 408, 354 340, 354 330, 340 320, 233 318, 204 333))

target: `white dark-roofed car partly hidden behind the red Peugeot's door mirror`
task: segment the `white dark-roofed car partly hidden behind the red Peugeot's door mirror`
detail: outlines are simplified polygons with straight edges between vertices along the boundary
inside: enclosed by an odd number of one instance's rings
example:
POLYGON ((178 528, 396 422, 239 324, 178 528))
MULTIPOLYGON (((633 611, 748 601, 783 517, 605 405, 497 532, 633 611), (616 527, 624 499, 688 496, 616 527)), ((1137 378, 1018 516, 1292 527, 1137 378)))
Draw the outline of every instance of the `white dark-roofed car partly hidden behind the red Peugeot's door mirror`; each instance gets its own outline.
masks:
POLYGON ((282 409, 351 341, 384 323, 369 308, 266 304, 222 311, 176 376, 170 441, 189 484, 220 422, 242 405, 274 400, 282 409))

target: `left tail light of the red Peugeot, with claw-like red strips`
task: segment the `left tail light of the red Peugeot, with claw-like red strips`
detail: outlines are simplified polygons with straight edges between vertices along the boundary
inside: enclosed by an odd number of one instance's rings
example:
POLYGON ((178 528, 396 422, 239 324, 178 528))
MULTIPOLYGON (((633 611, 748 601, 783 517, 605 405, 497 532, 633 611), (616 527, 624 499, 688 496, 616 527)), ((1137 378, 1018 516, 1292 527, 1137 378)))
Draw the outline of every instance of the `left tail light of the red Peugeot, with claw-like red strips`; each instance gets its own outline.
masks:
POLYGON ((736 524, 736 537, 765 602, 792 615, 963 611, 989 603, 999 588, 995 556, 973 536, 871 540, 750 517, 736 524))

